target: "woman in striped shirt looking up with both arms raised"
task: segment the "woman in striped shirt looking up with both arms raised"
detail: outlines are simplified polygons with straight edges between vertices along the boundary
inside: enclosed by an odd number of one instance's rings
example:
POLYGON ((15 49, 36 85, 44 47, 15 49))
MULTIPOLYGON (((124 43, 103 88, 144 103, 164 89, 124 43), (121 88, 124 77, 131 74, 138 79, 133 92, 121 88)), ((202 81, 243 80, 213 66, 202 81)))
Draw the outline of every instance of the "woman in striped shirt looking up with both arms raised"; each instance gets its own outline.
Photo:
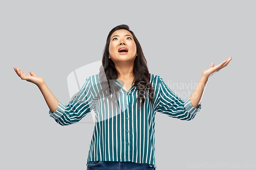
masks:
POLYGON ((66 106, 55 98, 43 78, 32 71, 27 75, 18 67, 14 70, 22 80, 38 86, 56 123, 77 123, 94 110, 88 169, 156 169, 156 112, 181 120, 193 119, 201 109, 207 80, 231 59, 216 66, 211 63, 186 101, 174 94, 162 78, 150 74, 140 43, 126 25, 110 31, 99 74, 87 78, 66 106))

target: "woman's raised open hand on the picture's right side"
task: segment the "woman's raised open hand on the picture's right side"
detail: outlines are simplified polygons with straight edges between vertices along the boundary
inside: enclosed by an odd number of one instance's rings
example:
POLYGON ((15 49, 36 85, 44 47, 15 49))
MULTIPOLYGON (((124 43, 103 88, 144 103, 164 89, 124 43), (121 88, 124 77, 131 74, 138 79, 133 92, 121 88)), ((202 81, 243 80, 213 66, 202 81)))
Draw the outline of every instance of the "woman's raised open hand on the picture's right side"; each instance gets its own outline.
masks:
POLYGON ((228 65, 228 63, 232 60, 231 57, 229 57, 227 60, 223 61, 219 65, 214 66, 214 63, 211 63, 210 68, 203 71, 202 76, 205 78, 209 78, 212 75, 214 75, 216 72, 224 68, 228 65))

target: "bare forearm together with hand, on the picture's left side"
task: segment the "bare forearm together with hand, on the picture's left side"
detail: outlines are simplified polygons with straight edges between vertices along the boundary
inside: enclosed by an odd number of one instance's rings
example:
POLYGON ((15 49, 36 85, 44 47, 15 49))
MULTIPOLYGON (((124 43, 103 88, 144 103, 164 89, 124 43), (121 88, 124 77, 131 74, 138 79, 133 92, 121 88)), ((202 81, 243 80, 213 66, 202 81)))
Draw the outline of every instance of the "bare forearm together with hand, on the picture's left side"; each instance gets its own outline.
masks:
POLYGON ((20 77, 20 79, 27 80, 28 82, 37 85, 42 95, 44 96, 51 112, 55 112, 57 110, 59 101, 55 98, 51 90, 47 87, 43 78, 36 76, 33 71, 30 71, 30 75, 27 75, 26 73, 22 72, 22 70, 20 70, 20 68, 18 67, 14 67, 14 70, 16 74, 20 77))

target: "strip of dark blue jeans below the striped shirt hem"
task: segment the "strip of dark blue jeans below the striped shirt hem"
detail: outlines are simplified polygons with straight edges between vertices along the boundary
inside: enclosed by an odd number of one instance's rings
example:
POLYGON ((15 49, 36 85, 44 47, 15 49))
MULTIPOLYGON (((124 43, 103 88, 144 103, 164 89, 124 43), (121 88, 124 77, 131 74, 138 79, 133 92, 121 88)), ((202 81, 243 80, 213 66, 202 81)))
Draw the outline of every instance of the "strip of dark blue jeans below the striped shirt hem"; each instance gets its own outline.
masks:
POLYGON ((88 161, 87 170, 155 170, 148 163, 117 162, 117 161, 88 161))

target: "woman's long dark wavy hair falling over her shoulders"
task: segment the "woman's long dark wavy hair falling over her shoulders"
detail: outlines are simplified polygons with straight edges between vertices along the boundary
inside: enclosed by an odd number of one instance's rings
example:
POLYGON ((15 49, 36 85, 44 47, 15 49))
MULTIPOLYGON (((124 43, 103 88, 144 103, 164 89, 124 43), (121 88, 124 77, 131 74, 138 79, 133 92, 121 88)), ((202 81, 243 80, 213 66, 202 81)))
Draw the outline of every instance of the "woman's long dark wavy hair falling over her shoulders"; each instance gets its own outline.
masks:
MULTIPOLYGON (((137 104, 140 102, 140 108, 145 103, 145 96, 149 97, 150 102, 153 102, 154 99, 154 88, 152 84, 149 82, 150 80, 150 72, 147 68, 146 58, 144 57, 144 54, 142 52, 142 48, 140 46, 140 43, 138 39, 136 38, 135 34, 130 30, 129 26, 127 25, 120 25, 115 28, 113 28, 108 37, 106 38, 106 44, 104 47, 103 57, 102 57, 102 66, 100 68, 99 72, 99 80, 100 84, 102 86, 102 89, 100 90, 98 94, 98 98, 100 93, 103 91, 104 96, 106 98, 110 99, 111 101, 117 101, 117 94, 119 91, 118 86, 115 84, 115 81, 118 78, 118 72, 116 70, 115 64, 112 61, 112 59, 109 59, 109 46, 110 46, 110 37, 111 35, 117 31, 117 30, 127 30, 129 31, 135 41, 136 44, 136 50, 138 56, 136 56, 134 60, 134 67, 133 67, 133 74, 135 76, 134 78, 134 86, 138 88, 138 97, 136 99, 137 104), (115 95, 112 95, 115 94, 115 95), (112 95, 112 98, 110 97, 112 95)), ((117 106, 117 105, 116 105, 117 106)))

